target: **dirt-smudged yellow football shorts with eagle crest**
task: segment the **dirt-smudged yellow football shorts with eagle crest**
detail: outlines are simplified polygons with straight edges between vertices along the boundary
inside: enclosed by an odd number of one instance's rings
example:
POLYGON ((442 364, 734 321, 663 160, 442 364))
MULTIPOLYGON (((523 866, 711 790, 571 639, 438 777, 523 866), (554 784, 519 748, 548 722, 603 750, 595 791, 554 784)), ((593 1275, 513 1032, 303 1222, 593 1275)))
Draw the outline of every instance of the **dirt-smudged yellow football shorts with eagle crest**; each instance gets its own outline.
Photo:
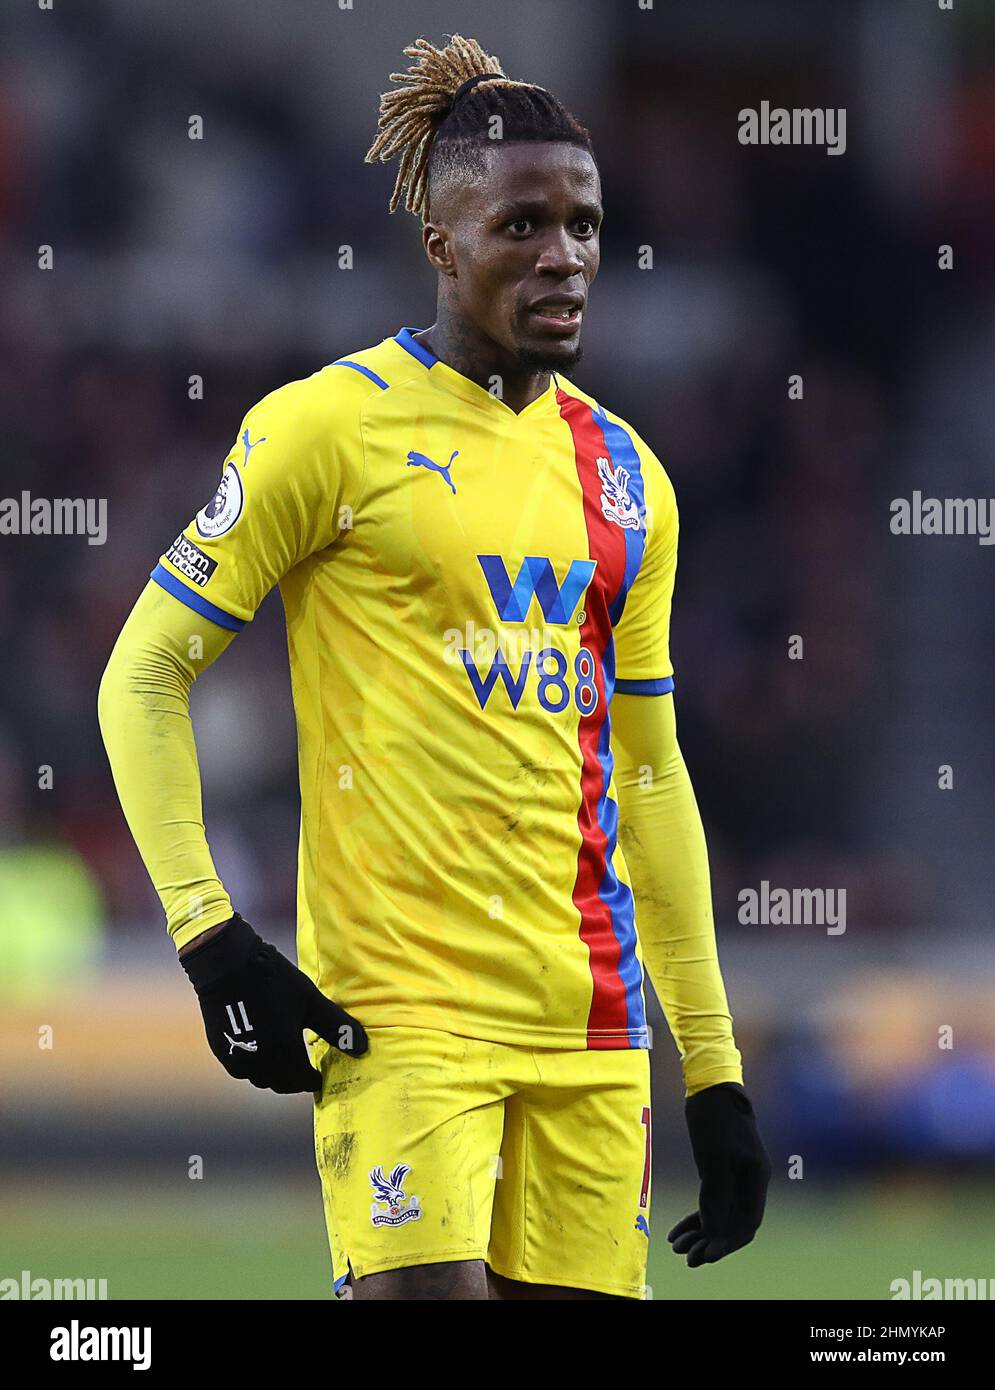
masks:
POLYGON ((365 1056, 318 1041, 313 1058, 336 1291, 350 1268, 485 1259, 525 1283, 646 1297, 645 1049, 381 1027, 365 1056))

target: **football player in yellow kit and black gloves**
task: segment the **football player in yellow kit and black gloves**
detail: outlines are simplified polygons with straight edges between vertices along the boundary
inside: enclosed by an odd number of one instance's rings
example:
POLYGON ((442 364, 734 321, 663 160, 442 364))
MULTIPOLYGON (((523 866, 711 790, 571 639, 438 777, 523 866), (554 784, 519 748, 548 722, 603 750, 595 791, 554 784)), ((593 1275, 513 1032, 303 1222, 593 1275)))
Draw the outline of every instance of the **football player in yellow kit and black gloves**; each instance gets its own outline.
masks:
POLYGON ((770 1176, 675 737, 674 491, 568 375, 603 215, 588 131, 472 39, 404 53, 367 161, 399 160, 435 322, 249 410, 100 726, 211 1051, 313 1093, 336 1293, 643 1298, 645 973, 702 1180, 674 1251, 750 1241, 770 1176), (218 878, 189 706, 274 585, 299 966, 218 878))

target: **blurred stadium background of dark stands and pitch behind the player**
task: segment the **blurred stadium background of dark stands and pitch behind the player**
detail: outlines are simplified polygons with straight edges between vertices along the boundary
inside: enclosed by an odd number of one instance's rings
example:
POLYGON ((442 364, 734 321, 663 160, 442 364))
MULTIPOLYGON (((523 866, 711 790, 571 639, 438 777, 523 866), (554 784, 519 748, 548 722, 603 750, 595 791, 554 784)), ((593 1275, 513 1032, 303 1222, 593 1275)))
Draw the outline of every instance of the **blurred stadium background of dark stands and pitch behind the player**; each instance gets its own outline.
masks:
MULTIPOLYGON (((211 1061, 94 702, 245 409, 432 321, 417 224, 386 215, 393 170, 363 153, 404 43, 454 29, 593 132, 607 221, 575 377, 652 442, 681 505, 681 741, 777 1179, 748 1252, 673 1259, 695 1182, 657 1019, 655 1297, 995 1276, 991 550, 888 525, 914 488, 995 492, 981 0, 4 7, 0 493, 107 498, 108 539, 0 537, 0 1276, 329 1297, 309 1106, 211 1061), (846 107, 845 156, 741 146, 738 111, 762 100, 846 107), (741 926, 762 880, 845 887, 845 934, 741 926)), ((271 595, 199 682, 195 721, 221 876, 289 944, 281 617, 271 595)))

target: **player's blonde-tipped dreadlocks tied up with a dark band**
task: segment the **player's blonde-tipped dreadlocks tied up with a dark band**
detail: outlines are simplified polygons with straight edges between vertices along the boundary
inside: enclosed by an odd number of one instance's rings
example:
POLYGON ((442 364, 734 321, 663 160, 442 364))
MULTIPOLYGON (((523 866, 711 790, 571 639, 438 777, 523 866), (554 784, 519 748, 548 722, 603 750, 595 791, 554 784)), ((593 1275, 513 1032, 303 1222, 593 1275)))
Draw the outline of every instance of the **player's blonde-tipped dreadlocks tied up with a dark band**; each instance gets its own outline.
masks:
POLYGON ((502 118, 502 139, 566 140, 586 149, 591 135, 545 88, 509 78, 496 57, 475 39, 450 35, 445 49, 416 39, 404 56, 417 58, 407 72, 392 72, 393 88, 381 96, 378 135, 367 164, 400 154, 390 211, 400 204, 428 220, 429 178, 472 178, 482 172, 481 152, 492 145, 489 121, 502 118), (474 82, 472 79, 484 79, 474 82), (484 88, 485 90, 481 90, 484 88))

